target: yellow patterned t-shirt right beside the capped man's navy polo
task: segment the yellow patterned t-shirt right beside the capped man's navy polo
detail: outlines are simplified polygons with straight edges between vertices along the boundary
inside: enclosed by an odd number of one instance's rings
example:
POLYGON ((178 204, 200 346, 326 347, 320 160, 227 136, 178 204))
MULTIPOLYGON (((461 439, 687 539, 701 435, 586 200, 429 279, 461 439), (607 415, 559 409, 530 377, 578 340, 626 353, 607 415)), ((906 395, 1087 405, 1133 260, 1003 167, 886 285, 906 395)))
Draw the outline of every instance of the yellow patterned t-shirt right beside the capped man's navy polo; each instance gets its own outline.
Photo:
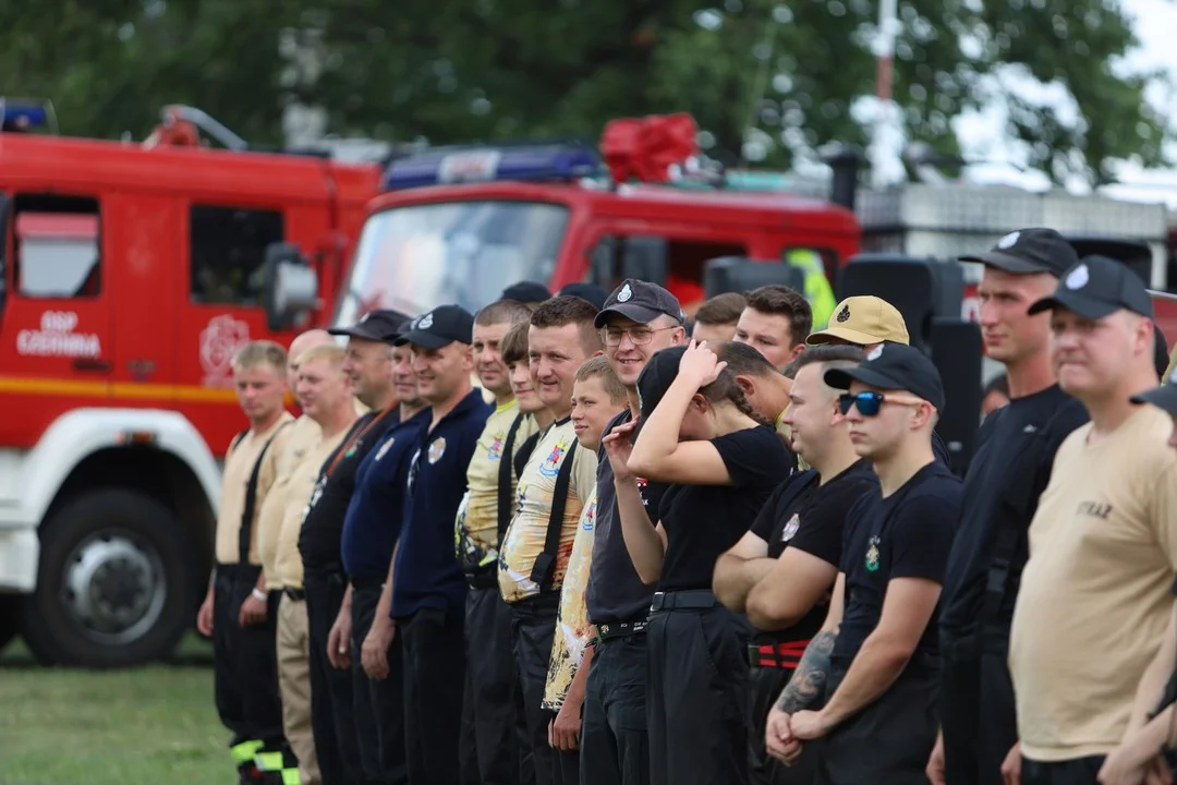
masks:
MULTIPOLYGON (((478 438, 474 457, 466 470, 466 495, 458 506, 454 537, 458 559, 464 564, 486 566, 499 559, 499 466, 514 458, 523 443, 538 428, 536 418, 519 424, 511 455, 504 457, 507 434, 519 415, 519 401, 512 400, 494 410, 478 438)), ((514 511, 516 475, 511 472, 511 510, 514 511)))

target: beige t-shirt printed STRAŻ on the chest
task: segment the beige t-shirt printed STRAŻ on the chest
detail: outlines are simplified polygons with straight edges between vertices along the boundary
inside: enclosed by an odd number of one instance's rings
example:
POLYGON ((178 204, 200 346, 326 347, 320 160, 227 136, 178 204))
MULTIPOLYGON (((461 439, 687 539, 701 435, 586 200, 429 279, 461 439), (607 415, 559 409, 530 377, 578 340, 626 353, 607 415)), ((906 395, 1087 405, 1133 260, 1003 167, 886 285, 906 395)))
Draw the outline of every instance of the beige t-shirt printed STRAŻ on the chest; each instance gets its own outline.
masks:
POLYGON ((1032 760, 1106 754, 1173 606, 1177 451, 1168 414, 1142 406, 1088 445, 1062 444, 1030 525, 1010 639, 1022 752, 1032 760))

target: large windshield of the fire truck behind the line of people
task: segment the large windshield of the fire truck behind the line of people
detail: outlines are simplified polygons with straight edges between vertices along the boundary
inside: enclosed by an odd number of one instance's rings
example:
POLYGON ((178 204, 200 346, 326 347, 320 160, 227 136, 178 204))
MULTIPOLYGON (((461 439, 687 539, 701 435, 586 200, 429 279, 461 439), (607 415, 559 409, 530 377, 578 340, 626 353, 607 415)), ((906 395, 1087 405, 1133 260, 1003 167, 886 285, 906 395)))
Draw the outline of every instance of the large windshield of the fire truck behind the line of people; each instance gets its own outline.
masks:
POLYGON ((417 315, 457 302, 474 312, 521 280, 547 282, 568 209, 526 201, 452 201, 393 207, 360 233, 335 325, 374 308, 417 315))

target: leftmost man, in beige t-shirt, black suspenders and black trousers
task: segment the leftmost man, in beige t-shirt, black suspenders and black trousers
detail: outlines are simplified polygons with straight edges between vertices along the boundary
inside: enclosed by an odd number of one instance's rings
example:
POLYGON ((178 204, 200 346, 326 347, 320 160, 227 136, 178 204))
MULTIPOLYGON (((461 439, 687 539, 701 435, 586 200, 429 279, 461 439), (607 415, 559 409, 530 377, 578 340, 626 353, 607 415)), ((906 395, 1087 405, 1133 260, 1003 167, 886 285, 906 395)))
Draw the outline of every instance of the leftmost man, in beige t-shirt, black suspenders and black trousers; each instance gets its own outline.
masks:
POLYGON ((274 672, 274 608, 268 604, 257 543, 257 512, 273 484, 272 455, 292 418, 282 408, 286 352, 272 341, 246 344, 233 358, 238 403, 250 419, 230 445, 217 515, 217 568, 197 626, 213 638, 217 711, 232 733, 230 751, 242 783, 281 781, 281 706, 274 672), (272 758, 277 776, 264 776, 272 758))

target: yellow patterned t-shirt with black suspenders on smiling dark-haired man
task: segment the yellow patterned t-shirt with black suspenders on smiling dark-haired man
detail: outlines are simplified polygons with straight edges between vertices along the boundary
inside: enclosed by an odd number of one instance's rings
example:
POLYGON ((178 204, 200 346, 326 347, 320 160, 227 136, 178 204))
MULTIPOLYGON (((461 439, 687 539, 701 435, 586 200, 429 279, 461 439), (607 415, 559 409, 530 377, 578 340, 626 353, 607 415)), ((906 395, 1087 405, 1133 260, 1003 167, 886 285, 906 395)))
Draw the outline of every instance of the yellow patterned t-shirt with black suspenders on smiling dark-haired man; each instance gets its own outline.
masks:
MULTIPOLYGON (((499 548, 499 591, 507 603, 518 603, 539 593, 531 571, 547 539, 547 519, 552 513, 557 475, 576 440, 572 420, 553 424, 536 445, 519 475, 519 506, 499 548)), ((559 590, 564 584, 580 511, 596 486, 597 453, 578 446, 572 453, 572 475, 568 478, 568 498, 564 505, 564 526, 551 590, 559 590)))

